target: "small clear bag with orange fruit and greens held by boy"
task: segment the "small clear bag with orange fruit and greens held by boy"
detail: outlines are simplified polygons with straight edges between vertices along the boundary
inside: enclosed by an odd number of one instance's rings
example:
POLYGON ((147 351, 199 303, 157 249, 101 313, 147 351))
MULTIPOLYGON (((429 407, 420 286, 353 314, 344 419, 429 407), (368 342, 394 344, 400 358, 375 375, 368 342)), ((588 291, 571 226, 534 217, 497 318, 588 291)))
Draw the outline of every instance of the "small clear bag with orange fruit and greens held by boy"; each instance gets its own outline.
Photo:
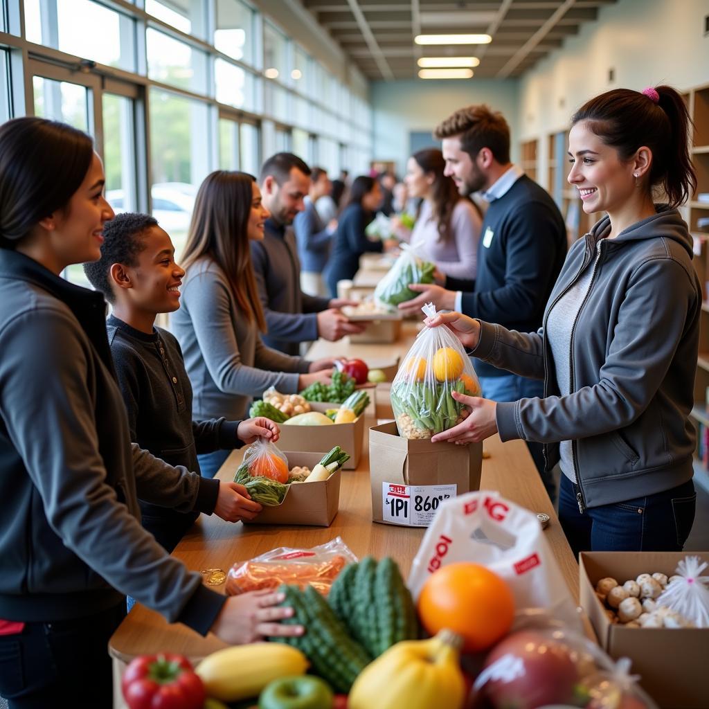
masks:
POLYGON ((243 485, 257 503, 278 507, 288 492, 288 460, 274 443, 257 438, 246 449, 234 482, 243 485))

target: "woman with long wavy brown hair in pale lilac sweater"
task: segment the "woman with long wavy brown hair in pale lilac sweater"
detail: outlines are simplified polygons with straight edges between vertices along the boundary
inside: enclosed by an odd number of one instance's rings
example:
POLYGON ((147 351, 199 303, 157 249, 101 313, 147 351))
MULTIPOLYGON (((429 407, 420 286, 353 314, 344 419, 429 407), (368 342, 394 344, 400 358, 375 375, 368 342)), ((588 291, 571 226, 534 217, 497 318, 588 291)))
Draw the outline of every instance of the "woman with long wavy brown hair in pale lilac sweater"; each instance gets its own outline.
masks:
POLYGON ((408 241, 442 274, 472 281, 482 218, 444 170, 443 154, 435 147, 419 150, 408 159, 404 178, 408 194, 423 199, 408 241))

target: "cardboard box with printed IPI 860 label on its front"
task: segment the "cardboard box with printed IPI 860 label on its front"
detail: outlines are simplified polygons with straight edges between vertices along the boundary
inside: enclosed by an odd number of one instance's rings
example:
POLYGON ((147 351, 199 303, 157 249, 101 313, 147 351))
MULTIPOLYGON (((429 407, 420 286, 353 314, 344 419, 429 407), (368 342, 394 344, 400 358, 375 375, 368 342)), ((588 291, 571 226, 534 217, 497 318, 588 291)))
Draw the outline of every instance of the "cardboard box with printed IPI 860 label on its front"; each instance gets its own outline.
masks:
POLYGON ((440 501, 480 489, 481 443, 408 440, 396 423, 369 429, 372 520, 428 527, 440 501))

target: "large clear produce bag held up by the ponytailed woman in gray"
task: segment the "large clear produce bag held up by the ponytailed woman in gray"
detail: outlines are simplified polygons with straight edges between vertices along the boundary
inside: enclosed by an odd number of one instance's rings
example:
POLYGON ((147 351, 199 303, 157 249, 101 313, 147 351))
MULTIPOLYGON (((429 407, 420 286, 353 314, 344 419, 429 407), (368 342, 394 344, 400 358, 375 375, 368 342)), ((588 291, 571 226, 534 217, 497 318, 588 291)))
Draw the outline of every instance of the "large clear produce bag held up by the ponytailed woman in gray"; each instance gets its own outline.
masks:
MULTIPOLYGON (((432 303, 421 308, 436 314, 432 303)), ((391 408, 399 435, 430 438, 468 415, 452 392, 480 396, 480 383, 469 357, 448 328, 423 328, 391 383, 391 408)))

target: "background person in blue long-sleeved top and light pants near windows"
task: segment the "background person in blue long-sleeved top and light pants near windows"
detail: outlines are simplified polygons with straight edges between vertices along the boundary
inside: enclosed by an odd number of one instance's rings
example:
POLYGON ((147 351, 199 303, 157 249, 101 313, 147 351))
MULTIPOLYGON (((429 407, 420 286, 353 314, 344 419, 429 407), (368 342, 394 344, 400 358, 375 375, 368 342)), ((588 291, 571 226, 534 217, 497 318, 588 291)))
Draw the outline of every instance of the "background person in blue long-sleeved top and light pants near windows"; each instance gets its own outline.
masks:
POLYGON ((328 196, 331 189, 328 173, 322 167, 313 167, 310 191, 303 199, 305 209, 298 212, 293 220, 298 257, 301 259, 301 289, 308 296, 325 296, 326 293, 323 269, 328 262, 337 220, 323 224, 315 205, 318 199, 328 196))

